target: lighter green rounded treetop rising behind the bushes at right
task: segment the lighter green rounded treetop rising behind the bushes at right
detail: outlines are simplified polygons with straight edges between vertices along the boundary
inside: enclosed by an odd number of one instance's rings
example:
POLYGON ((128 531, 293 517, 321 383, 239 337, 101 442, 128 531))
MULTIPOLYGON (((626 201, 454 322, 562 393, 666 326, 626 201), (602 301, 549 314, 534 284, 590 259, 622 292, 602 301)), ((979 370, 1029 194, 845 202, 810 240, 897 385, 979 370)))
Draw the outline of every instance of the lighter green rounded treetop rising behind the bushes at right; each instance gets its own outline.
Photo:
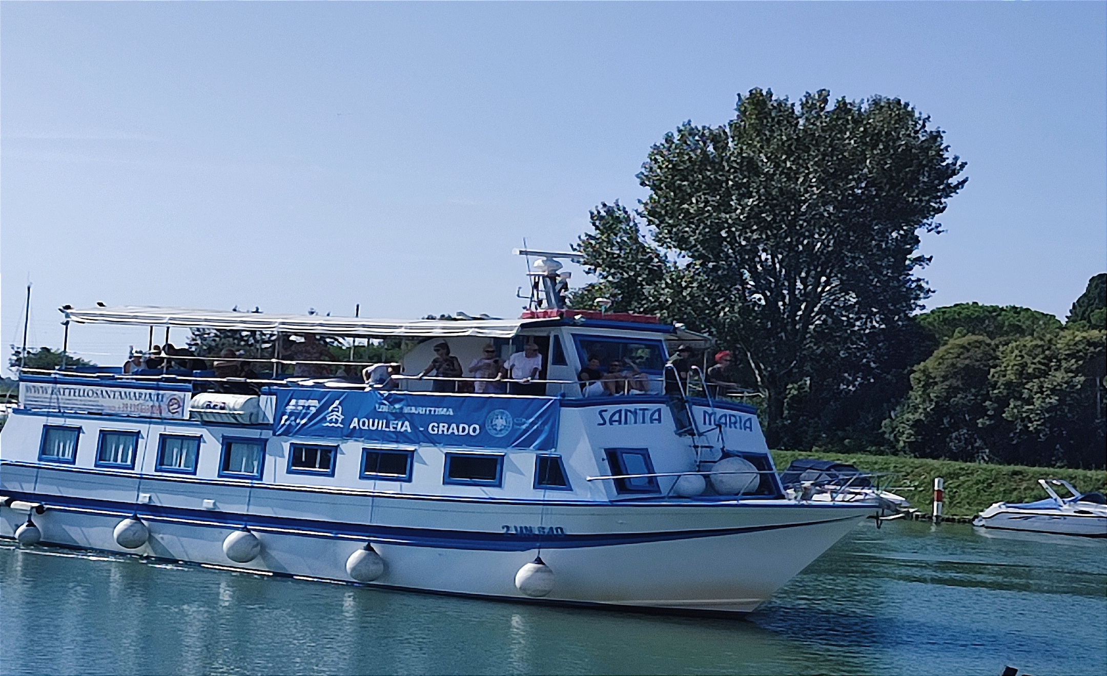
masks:
POLYGON ((1017 305, 958 303, 935 308, 918 316, 919 323, 942 342, 964 335, 984 335, 993 341, 1026 337, 1061 329, 1061 320, 1046 312, 1017 305))

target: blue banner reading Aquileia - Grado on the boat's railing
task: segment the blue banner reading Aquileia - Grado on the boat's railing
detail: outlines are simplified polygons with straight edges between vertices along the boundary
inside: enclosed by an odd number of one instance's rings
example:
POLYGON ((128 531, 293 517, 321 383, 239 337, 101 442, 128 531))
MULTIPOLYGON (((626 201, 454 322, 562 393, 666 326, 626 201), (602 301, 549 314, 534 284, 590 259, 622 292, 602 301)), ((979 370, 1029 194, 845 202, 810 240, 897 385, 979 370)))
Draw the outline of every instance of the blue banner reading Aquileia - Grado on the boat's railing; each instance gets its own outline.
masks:
POLYGON ((278 389, 273 435, 552 450, 552 397, 278 389))

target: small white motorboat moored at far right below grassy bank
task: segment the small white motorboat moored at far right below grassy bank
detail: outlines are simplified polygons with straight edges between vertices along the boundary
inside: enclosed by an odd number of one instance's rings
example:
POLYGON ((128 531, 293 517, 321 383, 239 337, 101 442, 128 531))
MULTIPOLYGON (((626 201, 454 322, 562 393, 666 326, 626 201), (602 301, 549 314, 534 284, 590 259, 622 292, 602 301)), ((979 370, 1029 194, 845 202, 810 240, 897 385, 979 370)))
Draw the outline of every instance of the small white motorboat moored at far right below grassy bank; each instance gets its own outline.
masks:
POLYGON ((1082 493, 1063 479, 1038 479, 1049 497, 1036 502, 996 502, 977 514, 973 526, 1010 531, 1107 538, 1107 498, 1099 492, 1082 493), (1052 486, 1063 486, 1070 496, 1062 498, 1052 486))

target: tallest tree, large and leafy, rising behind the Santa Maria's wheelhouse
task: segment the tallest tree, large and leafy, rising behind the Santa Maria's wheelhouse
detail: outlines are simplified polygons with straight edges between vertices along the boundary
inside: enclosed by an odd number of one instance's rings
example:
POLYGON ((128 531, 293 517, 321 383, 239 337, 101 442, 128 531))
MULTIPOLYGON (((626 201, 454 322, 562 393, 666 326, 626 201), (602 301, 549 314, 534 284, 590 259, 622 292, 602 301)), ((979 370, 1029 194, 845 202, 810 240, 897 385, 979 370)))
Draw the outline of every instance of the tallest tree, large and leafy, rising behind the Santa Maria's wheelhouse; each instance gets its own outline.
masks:
POLYGON ((834 387, 863 385, 872 334, 927 297, 918 232, 939 230, 963 168, 900 100, 831 104, 821 90, 796 105, 755 89, 728 123, 686 123, 654 145, 640 212, 601 205, 578 250, 617 310, 656 312, 736 350, 779 444, 789 387, 827 357, 862 366, 834 387))

